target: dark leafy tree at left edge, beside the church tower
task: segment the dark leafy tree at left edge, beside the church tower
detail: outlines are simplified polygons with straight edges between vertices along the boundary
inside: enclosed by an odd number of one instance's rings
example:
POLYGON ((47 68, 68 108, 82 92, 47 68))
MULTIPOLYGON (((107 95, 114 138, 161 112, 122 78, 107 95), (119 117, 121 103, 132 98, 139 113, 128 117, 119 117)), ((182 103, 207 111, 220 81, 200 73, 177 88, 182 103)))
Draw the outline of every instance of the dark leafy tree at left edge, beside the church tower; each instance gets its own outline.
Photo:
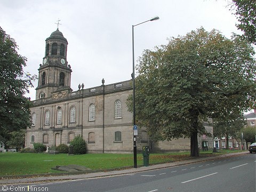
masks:
POLYGON ((35 76, 23 72, 26 58, 14 39, 0 27, 0 135, 30 126, 30 101, 25 97, 35 76))

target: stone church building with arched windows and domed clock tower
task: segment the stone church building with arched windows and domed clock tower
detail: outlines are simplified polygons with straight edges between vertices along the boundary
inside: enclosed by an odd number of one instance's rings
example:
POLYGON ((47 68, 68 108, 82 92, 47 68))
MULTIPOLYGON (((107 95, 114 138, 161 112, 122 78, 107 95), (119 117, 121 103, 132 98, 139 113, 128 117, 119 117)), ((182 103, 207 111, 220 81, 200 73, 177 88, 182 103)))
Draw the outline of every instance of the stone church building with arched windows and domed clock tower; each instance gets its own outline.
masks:
MULTIPOLYGON (((26 147, 40 142, 46 146, 69 145, 77 135, 87 142, 88 153, 132 153, 133 115, 127 110, 126 99, 132 94, 131 80, 77 91, 70 88, 71 66, 67 61, 67 39, 57 28, 45 40, 43 64, 39 65, 36 100, 31 110, 31 127, 26 132, 26 147)), ((212 126, 205 125, 213 133, 212 126)), ((202 141, 213 139, 198 137, 202 141)), ((189 139, 149 141, 147 130, 138 129, 137 149, 150 145, 151 150, 190 150, 189 139)))

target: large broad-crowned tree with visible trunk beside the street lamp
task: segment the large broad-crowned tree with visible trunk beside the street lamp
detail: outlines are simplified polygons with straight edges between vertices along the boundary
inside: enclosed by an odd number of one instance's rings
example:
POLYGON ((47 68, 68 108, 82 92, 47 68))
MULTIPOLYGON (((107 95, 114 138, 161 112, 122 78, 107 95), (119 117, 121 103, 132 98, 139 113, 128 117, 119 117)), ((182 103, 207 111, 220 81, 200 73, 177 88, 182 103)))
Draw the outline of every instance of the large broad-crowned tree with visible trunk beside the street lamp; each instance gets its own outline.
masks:
POLYGON ((253 105, 253 55, 253 47, 239 36, 228 39, 203 28, 146 50, 135 79, 137 124, 157 139, 190 138, 190 155, 198 156, 197 136, 207 134, 207 118, 253 105))

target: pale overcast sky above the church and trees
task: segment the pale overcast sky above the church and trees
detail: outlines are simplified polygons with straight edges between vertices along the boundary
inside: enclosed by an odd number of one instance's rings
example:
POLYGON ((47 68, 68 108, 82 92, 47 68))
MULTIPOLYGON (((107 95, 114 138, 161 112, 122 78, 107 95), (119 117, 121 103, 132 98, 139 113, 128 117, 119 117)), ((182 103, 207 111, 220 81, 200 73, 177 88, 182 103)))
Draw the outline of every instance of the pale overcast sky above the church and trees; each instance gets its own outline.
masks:
MULTIPOLYGON (((225 0, 0 0, 0 26, 27 57, 25 71, 38 75, 45 54, 45 39, 57 29, 68 41, 67 61, 73 70, 71 89, 131 79, 132 25, 135 60, 143 50, 167 43, 167 38, 186 35, 204 27, 218 29, 226 37, 240 33, 225 0)), ((34 83, 37 87, 37 81, 34 83)), ((28 97, 35 99, 35 87, 28 97)))

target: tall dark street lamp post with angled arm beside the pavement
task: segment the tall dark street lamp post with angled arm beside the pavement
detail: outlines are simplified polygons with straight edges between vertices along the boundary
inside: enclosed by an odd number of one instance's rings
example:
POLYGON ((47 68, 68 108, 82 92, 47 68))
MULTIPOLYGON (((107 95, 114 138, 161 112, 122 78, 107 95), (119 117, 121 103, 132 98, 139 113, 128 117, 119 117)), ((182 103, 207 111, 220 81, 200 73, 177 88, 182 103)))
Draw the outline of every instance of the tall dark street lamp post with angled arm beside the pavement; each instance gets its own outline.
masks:
MULTIPOLYGON (((134 30, 133 28, 135 26, 138 26, 142 23, 148 22, 148 21, 154 21, 158 20, 159 17, 154 17, 150 20, 141 22, 137 25, 132 26, 132 84, 133 84, 133 130, 136 127, 136 118, 135 118, 135 66, 134 66, 134 30)), ((136 135, 133 134, 133 167, 137 168, 137 146, 136 146, 136 135)))

